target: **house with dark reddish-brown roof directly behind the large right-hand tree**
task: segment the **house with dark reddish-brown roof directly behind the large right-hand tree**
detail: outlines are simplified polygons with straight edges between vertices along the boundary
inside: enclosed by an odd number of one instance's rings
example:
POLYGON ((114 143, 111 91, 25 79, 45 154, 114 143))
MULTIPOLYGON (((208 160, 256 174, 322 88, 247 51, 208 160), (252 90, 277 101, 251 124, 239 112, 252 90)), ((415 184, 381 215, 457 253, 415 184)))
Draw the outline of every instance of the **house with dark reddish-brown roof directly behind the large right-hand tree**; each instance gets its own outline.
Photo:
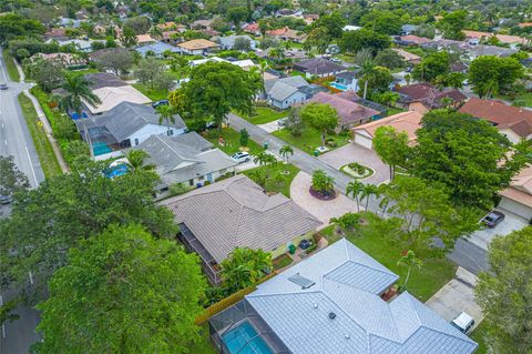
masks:
POLYGON ((395 89, 399 93, 397 105, 402 109, 417 110, 426 113, 431 109, 444 107, 459 107, 467 97, 456 89, 438 90, 428 82, 415 83, 395 89), (450 102, 446 102, 450 101, 450 102))

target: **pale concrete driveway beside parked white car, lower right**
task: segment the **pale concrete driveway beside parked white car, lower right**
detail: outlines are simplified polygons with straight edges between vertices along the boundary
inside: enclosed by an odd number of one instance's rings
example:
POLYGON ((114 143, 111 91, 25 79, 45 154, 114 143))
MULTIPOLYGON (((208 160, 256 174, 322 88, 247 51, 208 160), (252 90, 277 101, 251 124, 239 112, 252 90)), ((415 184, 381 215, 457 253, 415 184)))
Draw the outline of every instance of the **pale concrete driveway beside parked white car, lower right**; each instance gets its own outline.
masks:
POLYGON ((459 266, 454 279, 430 297, 426 305, 449 322, 466 312, 474 318, 477 326, 483 318, 482 311, 474 301, 477 281, 475 275, 459 266))

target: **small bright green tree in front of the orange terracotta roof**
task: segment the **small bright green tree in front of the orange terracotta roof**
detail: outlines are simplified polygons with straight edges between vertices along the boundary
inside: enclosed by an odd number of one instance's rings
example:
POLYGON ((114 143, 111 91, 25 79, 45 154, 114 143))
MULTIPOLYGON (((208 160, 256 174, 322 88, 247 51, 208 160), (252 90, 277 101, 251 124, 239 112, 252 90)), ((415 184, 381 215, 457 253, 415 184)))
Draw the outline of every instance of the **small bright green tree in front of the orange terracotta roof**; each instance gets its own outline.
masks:
POLYGON ((406 132, 398 132, 393 127, 383 125, 375 131, 374 150, 390 166, 390 180, 393 181, 397 165, 406 165, 410 148, 406 132))

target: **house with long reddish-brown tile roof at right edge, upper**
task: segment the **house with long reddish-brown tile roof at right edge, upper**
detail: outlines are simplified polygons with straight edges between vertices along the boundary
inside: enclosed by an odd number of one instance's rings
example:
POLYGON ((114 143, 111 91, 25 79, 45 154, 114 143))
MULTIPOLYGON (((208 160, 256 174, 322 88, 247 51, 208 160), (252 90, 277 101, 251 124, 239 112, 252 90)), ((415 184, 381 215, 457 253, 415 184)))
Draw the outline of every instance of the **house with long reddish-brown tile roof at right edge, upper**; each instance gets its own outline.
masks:
POLYGON ((499 101, 471 98, 460 112, 489 121, 512 143, 532 139, 532 111, 499 101))

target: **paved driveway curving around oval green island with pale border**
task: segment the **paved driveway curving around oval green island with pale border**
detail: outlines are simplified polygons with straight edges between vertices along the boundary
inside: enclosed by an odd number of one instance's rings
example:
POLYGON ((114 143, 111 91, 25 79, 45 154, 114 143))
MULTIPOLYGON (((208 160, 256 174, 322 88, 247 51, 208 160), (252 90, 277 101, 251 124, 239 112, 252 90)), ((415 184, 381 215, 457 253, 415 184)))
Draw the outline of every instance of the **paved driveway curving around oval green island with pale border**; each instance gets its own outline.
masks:
POLYGON ((360 180, 364 183, 380 184, 390 179, 388 165, 380 160, 377 153, 355 143, 348 143, 345 146, 326 152, 319 155, 318 159, 336 170, 351 162, 358 162, 372 169, 374 174, 360 180))

